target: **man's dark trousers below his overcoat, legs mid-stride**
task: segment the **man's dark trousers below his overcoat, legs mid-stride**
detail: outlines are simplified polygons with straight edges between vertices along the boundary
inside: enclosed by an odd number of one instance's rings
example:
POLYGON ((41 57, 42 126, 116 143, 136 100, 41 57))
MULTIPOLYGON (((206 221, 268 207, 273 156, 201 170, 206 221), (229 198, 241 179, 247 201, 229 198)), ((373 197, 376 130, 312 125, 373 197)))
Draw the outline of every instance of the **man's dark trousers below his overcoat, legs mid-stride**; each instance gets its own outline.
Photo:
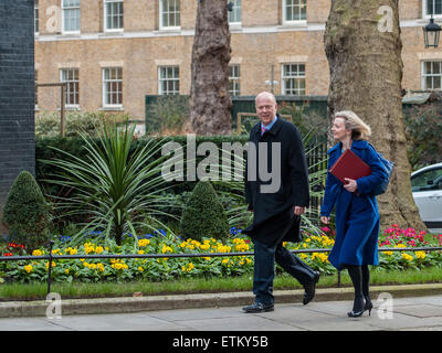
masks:
POLYGON ((314 271, 296 255, 283 246, 283 242, 267 244, 254 240, 254 276, 253 293, 255 301, 273 304, 273 280, 275 277, 275 261, 286 272, 296 278, 303 286, 311 284, 314 271))

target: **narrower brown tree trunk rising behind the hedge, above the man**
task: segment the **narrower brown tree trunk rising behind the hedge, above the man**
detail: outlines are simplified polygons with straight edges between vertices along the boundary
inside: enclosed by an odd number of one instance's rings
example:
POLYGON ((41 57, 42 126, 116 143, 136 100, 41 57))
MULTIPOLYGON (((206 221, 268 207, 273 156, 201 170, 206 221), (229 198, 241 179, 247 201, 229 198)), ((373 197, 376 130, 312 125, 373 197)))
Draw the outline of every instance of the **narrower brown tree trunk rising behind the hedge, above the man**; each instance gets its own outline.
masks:
POLYGON ((198 135, 231 133, 230 52, 228 2, 200 0, 192 49, 189 101, 190 121, 198 135))

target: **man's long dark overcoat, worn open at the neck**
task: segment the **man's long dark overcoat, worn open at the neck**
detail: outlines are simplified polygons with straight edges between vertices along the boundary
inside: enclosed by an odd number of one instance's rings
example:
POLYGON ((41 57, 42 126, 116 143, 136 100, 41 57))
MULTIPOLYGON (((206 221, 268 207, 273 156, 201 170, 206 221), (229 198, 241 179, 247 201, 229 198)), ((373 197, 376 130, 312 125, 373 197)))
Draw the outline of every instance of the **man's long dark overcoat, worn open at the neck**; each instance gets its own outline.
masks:
POLYGON ((245 202, 253 210, 253 223, 243 233, 252 239, 269 244, 299 242, 299 217, 293 212, 295 206, 308 206, 308 169, 299 131, 281 117, 263 136, 261 122, 250 132, 245 202), (255 160, 251 149, 256 152, 255 160), (277 170, 272 170, 272 165, 277 170), (273 180, 266 180, 263 167, 273 180), (272 183, 277 184, 276 178, 280 178, 277 190, 265 190, 272 183))

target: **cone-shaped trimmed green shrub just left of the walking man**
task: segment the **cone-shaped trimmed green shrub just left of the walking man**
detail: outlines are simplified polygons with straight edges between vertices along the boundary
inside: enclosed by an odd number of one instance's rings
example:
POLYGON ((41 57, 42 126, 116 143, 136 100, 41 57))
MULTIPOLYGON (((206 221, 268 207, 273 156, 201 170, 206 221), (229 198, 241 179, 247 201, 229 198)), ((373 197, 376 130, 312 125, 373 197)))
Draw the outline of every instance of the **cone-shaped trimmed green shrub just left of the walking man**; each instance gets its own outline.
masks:
POLYGON ((199 181, 182 211, 180 231, 183 238, 225 239, 229 224, 224 208, 210 181, 199 181))

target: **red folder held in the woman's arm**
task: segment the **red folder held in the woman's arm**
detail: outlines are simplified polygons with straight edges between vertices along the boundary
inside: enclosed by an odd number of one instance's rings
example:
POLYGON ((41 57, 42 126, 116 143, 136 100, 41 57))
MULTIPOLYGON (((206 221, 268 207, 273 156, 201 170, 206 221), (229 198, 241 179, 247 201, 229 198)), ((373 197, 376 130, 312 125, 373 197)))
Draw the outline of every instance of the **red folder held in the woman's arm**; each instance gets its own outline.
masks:
POLYGON ((361 176, 371 174, 371 169, 368 164, 356 156, 351 150, 347 149, 339 159, 330 168, 330 173, 339 179, 343 184, 347 182, 344 178, 357 180, 361 176))

